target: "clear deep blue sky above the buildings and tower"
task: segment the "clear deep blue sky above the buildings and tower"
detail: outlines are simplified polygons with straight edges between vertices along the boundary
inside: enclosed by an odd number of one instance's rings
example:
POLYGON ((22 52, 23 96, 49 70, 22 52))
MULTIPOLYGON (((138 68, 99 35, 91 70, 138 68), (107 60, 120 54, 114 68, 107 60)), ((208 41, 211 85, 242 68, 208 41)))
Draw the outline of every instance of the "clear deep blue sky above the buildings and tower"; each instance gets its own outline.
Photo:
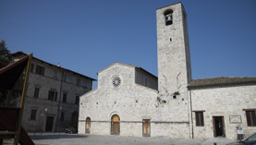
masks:
MULTIPOLYGON (((0 0, 0 40, 97 79, 115 62, 157 76, 155 9, 177 0, 0 0)), ((184 0, 192 78, 256 77, 256 1, 184 0)), ((96 83, 93 85, 96 87, 96 83)))

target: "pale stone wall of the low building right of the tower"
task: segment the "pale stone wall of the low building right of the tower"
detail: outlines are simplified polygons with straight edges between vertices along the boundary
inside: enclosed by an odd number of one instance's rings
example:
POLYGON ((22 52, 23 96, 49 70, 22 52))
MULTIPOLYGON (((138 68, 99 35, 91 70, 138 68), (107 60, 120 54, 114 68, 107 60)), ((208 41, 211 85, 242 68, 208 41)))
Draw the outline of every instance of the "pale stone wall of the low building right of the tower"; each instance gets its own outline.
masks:
POLYGON ((237 139, 236 127, 242 125, 245 136, 256 131, 255 127, 248 127, 243 109, 256 108, 256 86, 237 85, 226 87, 211 87, 192 89, 191 101, 193 111, 204 111, 204 126, 196 127, 193 112, 193 126, 195 139, 213 138, 213 116, 224 116, 226 138, 237 139), (241 116, 241 123, 230 123, 231 115, 241 116))

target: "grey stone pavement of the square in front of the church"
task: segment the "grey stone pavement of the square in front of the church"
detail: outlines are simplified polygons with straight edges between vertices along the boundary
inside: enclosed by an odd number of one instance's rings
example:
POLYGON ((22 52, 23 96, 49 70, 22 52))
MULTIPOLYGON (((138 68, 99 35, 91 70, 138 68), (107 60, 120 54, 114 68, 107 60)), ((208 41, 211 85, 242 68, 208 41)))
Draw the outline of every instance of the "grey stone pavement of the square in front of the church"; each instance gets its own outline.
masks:
POLYGON ((121 137, 78 134, 30 134, 36 144, 53 145, 225 145, 235 142, 232 139, 170 139, 166 137, 121 137))

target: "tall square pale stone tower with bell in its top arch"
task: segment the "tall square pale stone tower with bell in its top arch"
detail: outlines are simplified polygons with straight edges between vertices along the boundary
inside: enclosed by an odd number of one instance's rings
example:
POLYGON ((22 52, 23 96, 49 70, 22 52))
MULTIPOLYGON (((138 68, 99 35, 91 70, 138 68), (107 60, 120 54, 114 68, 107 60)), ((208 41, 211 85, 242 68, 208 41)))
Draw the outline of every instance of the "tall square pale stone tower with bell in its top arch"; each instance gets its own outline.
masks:
POLYGON ((165 6, 156 10, 156 20, 159 94, 187 98, 191 66, 186 11, 182 3, 165 6))

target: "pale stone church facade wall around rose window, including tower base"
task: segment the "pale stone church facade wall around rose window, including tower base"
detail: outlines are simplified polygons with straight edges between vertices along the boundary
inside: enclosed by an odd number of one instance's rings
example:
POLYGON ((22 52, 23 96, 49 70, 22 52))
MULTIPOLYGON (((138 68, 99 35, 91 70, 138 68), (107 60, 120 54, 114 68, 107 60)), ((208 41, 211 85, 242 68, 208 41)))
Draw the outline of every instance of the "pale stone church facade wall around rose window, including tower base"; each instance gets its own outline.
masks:
POLYGON ((142 137, 142 119, 150 119, 152 137, 189 138, 188 103, 184 99, 160 103, 157 91, 135 83, 134 66, 117 63, 98 76, 99 87, 80 97, 79 133, 85 133, 86 118, 90 117, 91 134, 110 135, 111 117, 118 115, 121 136, 142 137), (121 78, 118 89, 111 87, 113 76, 121 78), (174 103, 179 110, 172 106, 174 103))

